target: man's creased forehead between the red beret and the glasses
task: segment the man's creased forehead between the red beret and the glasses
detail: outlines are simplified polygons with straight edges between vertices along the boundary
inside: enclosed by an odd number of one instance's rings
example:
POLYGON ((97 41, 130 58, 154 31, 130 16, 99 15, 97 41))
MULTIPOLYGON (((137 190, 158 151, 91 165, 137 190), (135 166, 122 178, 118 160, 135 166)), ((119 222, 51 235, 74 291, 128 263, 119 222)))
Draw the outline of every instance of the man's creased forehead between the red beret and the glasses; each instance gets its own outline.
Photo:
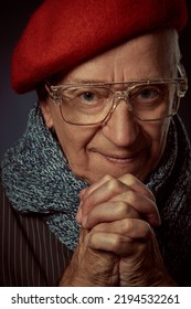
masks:
POLYGON ((63 83, 112 83, 130 79, 172 77, 180 58, 174 30, 145 34, 84 62, 63 83))

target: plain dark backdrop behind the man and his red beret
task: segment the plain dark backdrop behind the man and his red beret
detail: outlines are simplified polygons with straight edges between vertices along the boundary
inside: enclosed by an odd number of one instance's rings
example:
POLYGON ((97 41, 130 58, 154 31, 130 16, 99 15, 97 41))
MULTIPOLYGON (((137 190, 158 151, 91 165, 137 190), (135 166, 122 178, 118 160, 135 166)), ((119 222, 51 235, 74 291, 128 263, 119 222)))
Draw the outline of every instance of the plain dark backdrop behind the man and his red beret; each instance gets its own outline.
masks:
MULTIPOLYGON (((67 0, 70 1, 70 0, 67 0)), ((167 0, 168 1, 168 0, 167 0)), ((181 0, 180 0, 181 1, 181 0)), ((191 1, 188 1, 191 17, 191 1)), ((12 50, 29 17, 42 0, 3 1, 0 8, 0 159, 8 147, 25 130, 28 111, 36 99, 34 92, 17 95, 10 85, 12 50)), ((55 17, 56 18, 56 17, 55 17)), ((191 21, 180 38, 182 63, 191 81, 191 21)), ((190 83, 190 82, 189 82, 190 83)), ((191 89, 181 103, 180 113, 191 138, 191 89)))

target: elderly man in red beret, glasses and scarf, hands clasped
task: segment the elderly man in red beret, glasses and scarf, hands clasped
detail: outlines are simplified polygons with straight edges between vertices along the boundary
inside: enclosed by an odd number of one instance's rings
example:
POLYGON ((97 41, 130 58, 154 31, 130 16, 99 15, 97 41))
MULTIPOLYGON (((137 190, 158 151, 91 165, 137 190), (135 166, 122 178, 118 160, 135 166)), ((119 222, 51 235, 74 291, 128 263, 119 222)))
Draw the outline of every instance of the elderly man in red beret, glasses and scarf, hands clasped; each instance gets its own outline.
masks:
POLYGON ((39 104, 2 162, 3 285, 191 283, 185 20, 183 1, 47 0, 34 13, 12 63, 13 88, 39 104))

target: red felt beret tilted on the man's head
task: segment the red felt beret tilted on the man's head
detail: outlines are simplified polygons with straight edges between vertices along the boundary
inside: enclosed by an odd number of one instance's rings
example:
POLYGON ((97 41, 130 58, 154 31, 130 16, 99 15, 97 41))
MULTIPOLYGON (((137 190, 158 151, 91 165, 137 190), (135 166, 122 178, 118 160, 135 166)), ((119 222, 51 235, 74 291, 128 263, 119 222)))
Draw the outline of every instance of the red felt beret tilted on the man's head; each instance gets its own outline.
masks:
POLYGON ((31 17, 12 57, 12 87, 44 78, 135 35, 187 22, 184 0, 45 0, 31 17))

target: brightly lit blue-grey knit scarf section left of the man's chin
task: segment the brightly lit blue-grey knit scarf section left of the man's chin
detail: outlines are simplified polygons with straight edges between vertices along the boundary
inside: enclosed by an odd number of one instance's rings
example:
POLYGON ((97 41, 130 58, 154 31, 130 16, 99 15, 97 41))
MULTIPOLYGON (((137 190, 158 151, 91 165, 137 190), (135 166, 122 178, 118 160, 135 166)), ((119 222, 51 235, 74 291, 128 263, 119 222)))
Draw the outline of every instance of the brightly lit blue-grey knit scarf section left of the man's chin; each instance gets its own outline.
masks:
POLYGON ((4 156, 2 180, 17 211, 43 214, 62 243, 71 249, 76 246, 78 193, 87 184, 70 170, 38 106, 30 111, 24 136, 4 156))

